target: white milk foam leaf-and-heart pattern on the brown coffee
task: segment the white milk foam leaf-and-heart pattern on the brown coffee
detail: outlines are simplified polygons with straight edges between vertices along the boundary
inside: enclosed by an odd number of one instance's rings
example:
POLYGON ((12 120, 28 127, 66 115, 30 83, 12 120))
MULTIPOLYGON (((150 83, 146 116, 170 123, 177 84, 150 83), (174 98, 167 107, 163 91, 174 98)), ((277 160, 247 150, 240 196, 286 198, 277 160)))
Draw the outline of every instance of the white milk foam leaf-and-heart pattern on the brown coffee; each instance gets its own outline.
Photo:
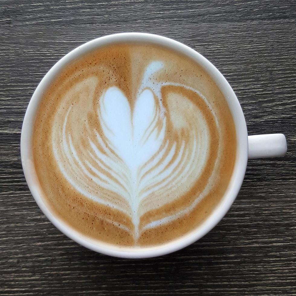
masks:
MULTIPOLYGON (((146 68, 133 108, 116 86, 105 89, 99 98, 95 98, 101 132, 90 126, 87 118, 81 117, 80 122, 76 122, 85 125, 86 149, 82 149, 78 141, 73 141, 77 135, 75 126, 71 126, 71 118, 79 118, 77 114, 81 113, 81 108, 79 104, 69 106, 69 101, 74 96, 77 102, 83 100, 85 89, 89 96, 94 97, 100 83, 97 77, 79 82, 61 98, 52 128, 54 157, 65 179, 86 198, 130 217, 134 229, 120 223, 117 226, 135 238, 144 230, 188 214, 210 191, 217 169, 215 165, 208 185, 189 206, 139 227, 143 214, 178 199, 190 190, 207 163, 210 149, 209 127, 198 106, 182 94, 171 93, 168 98, 171 108, 167 110, 162 104, 161 88, 165 85, 182 86, 198 94, 209 106, 207 99, 186 85, 155 80, 154 74, 163 67, 165 65, 161 61, 154 61, 146 68), (184 106, 180 106, 179 111, 178 102, 184 106), (61 114, 65 115, 61 117, 61 114), (186 133, 179 149, 177 143, 167 137, 170 132, 168 120, 180 137, 186 133)), ((214 111, 212 114, 218 127, 214 111)))

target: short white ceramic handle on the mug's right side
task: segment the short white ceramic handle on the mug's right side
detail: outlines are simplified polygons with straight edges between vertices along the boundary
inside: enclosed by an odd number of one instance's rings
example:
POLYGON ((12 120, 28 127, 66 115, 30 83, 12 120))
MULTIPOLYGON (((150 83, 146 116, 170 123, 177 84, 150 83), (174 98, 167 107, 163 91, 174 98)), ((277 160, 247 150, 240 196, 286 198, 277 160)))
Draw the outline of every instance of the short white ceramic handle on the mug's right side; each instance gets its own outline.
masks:
POLYGON ((268 158, 285 156, 287 142, 283 134, 248 136, 248 158, 268 158))

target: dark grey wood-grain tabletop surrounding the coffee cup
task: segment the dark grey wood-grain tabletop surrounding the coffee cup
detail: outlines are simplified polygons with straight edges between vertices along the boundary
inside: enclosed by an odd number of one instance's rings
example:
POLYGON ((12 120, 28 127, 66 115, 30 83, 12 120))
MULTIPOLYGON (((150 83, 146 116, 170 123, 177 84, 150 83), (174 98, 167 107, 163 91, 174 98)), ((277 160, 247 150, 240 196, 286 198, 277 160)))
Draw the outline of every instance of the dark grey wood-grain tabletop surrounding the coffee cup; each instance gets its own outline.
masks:
POLYGON ((295 295, 294 1, 0 1, 1 295, 295 295), (224 74, 249 134, 283 132, 284 158, 249 161, 224 219, 198 242, 128 260, 79 246, 42 214, 21 167, 22 120, 63 55, 95 37, 171 37, 224 74))

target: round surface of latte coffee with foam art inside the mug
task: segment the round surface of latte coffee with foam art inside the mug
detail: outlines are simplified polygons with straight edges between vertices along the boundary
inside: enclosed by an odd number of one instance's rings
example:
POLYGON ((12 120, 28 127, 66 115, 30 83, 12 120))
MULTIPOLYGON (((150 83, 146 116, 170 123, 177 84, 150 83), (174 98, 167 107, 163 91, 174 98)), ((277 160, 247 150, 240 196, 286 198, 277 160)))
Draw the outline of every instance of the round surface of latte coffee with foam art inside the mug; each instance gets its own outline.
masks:
POLYGON ((47 207, 85 236, 156 246, 195 230, 223 198, 236 130, 194 60, 117 43, 72 61, 43 93, 34 166, 47 207))

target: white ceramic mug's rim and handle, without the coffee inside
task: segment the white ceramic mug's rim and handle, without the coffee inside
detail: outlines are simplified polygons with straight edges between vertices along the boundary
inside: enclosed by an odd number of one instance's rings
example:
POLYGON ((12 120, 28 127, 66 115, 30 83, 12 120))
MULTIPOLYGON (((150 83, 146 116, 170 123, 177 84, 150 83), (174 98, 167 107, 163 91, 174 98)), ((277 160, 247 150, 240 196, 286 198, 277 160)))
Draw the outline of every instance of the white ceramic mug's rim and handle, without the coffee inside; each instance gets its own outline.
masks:
POLYGON ((259 157, 284 156, 286 151, 286 139, 283 134, 268 134, 248 137, 243 111, 240 107, 239 101, 236 98, 236 95, 234 94, 232 88, 223 77, 223 75, 206 58, 197 53, 195 50, 175 40, 171 40, 169 38, 158 35, 144 33, 122 33, 101 37, 77 47, 66 56, 64 56, 47 72, 47 74, 43 77, 43 79, 37 86, 28 105, 21 131, 21 160, 24 175, 35 201, 37 202, 43 213, 47 216, 47 218, 61 232, 66 234, 66 236, 76 241, 80 245, 99 253, 124 258, 147 258, 168 254, 182 249, 183 247, 188 246, 189 244, 200 239, 224 217, 224 215, 232 205, 233 201, 235 200, 236 195, 238 194, 243 182, 248 158, 253 159, 259 157), (215 208, 212 214, 209 215, 209 217, 195 230, 191 231, 185 236, 180 237, 177 240, 160 246, 145 248, 116 247, 90 239, 89 237, 84 236, 76 230, 72 229, 69 225, 56 217, 50 211, 50 208, 48 208, 47 205, 44 203, 43 199, 41 198, 41 188, 34 168, 32 153, 33 124, 36 111, 42 99, 43 92, 50 85, 53 78, 69 62, 75 60, 76 58, 90 50, 114 42, 144 42, 159 44, 183 53, 186 56, 189 56, 191 59, 195 60, 211 75, 211 77, 219 86, 221 92, 224 94, 236 127, 236 163, 227 191, 224 197, 221 199, 220 204, 215 208))

